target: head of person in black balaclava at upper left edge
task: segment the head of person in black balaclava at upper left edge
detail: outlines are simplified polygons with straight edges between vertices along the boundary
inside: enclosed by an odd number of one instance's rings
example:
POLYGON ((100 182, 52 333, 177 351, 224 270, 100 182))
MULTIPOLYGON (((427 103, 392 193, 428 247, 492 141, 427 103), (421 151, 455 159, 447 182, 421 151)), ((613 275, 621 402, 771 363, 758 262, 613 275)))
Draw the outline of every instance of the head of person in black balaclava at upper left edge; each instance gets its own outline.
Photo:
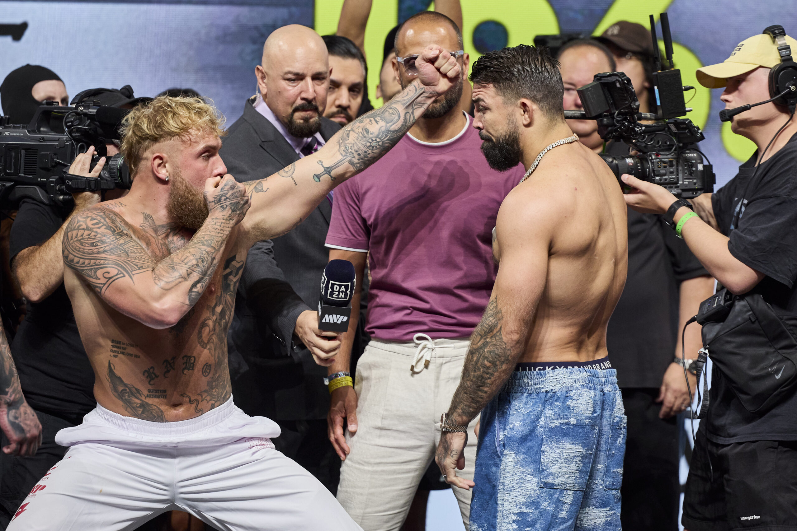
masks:
POLYGON ((11 72, 0 85, 2 113, 11 123, 27 125, 44 100, 69 103, 66 87, 58 74, 37 64, 26 64, 11 72))

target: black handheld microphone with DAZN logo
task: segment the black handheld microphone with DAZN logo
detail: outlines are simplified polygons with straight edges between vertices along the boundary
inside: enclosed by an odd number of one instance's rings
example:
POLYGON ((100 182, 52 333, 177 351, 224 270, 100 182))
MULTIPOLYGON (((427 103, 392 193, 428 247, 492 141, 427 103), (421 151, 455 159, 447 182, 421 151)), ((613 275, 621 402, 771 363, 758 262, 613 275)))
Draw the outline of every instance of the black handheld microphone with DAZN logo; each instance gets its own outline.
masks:
POLYGON ((348 260, 330 260, 321 276, 321 299, 318 302, 318 328, 328 332, 346 332, 351 318, 351 297, 355 289, 354 264, 348 260))

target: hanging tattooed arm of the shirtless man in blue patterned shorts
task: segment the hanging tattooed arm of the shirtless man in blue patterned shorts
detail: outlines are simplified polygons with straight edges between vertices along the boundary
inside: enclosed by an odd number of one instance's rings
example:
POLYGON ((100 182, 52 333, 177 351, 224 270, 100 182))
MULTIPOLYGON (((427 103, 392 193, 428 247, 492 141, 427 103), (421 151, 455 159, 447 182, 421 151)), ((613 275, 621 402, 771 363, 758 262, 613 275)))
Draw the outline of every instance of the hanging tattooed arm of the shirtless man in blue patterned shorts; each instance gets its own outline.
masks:
MULTIPOLYGON (((447 418, 466 425, 493 399, 515 369, 532 332, 548 277, 548 249, 558 219, 544 194, 510 194, 501 205, 496 236, 501 264, 485 314, 470 338, 462 377, 447 418), (534 227, 529 231, 528 227, 534 227)), ((465 467, 467 433, 443 431, 435 460, 446 481, 462 489, 472 481, 457 476, 465 467)))

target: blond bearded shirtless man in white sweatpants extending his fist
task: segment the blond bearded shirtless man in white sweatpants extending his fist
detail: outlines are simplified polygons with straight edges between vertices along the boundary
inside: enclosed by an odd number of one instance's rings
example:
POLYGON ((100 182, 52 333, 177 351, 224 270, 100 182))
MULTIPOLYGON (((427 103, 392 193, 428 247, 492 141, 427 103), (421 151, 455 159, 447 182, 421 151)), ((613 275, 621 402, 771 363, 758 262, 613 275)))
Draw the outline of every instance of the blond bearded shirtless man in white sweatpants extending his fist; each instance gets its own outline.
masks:
POLYGON ((253 242, 298 225, 390 150, 459 75, 437 46, 418 63, 419 80, 391 103, 246 186, 225 175, 210 105, 160 97, 131 111, 122 141, 130 193, 73 217, 63 242, 97 408, 58 433, 69 451, 8 529, 135 529, 171 509, 218 529, 360 529, 273 449, 277 424, 235 408, 227 327, 253 242))

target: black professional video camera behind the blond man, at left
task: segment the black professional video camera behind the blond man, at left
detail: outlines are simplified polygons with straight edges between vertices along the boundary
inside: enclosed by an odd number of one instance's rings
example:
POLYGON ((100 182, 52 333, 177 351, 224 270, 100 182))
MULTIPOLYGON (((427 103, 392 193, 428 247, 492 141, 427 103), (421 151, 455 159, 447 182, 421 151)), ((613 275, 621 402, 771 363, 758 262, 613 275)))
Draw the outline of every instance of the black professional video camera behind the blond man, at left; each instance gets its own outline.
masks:
POLYGON ((106 155, 105 144, 120 139, 119 126, 128 109, 96 103, 58 107, 47 101, 27 126, 0 117, 0 209, 13 208, 24 197, 71 209, 72 193, 130 188, 121 154, 106 160, 98 179, 67 173, 77 154, 94 146, 93 168, 106 155))

